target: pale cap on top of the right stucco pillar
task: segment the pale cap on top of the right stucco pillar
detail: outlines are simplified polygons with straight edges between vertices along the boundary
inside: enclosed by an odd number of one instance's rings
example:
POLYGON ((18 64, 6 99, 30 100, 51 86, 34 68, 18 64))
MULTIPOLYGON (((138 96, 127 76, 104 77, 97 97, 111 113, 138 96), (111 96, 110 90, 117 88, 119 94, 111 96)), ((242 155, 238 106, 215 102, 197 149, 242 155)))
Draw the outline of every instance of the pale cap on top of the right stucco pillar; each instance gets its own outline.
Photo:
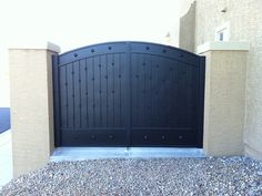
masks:
POLYGON ((201 54, 208 51, 225 51, 225 50, 235 50, 235 51, 249 51, 250 50, 250 43, 249 42, 232 42, 232 41, 215 41, 215 42, 206 42, 202 45, 199 45, 196 49, 196 53, 201 54))

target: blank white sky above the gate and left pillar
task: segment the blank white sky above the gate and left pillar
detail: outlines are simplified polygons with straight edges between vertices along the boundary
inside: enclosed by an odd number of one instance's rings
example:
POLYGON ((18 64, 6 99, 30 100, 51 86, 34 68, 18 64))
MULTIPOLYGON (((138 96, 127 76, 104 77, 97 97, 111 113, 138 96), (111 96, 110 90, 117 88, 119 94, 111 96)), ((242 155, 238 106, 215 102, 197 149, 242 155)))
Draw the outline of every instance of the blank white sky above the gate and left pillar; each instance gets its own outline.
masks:
POLYGON ((49 41, 61 52, 109 41, 178 47, 179 1, 0 0, 0 106, 10 105, 10 45, 49 41))

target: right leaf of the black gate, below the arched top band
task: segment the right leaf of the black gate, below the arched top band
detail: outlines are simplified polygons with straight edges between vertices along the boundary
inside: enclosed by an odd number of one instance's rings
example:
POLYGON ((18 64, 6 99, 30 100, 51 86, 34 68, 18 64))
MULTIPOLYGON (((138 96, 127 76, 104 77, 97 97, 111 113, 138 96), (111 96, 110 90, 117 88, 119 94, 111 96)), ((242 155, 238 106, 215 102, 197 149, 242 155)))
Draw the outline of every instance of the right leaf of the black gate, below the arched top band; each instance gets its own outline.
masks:
POLYGON ((196 66, 175 59, 131 54, 131 145, 198 145, 196 66))

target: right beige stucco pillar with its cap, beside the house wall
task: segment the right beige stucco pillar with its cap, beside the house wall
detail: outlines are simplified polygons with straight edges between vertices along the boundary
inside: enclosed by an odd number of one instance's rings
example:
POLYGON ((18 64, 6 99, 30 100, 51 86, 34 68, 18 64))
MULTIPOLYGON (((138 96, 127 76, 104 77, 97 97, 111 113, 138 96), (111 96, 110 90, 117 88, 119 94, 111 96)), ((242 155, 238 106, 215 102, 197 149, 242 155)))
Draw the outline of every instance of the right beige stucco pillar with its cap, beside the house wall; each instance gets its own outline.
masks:
POLYGON ((203 149, 208 156, 243 154, 248 51, 246 42, 198 48, 206 56, 203 149))

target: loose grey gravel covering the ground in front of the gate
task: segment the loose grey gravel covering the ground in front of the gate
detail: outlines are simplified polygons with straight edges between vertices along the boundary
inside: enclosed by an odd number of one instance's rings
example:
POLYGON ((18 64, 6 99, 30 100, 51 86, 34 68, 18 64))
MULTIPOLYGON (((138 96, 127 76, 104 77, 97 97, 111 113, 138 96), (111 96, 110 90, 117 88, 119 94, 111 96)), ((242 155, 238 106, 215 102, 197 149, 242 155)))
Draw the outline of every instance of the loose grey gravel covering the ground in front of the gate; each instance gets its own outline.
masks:
POLYGON ((262 195, 262 162, 248 157, 49 163, 0 195, 262 195))

